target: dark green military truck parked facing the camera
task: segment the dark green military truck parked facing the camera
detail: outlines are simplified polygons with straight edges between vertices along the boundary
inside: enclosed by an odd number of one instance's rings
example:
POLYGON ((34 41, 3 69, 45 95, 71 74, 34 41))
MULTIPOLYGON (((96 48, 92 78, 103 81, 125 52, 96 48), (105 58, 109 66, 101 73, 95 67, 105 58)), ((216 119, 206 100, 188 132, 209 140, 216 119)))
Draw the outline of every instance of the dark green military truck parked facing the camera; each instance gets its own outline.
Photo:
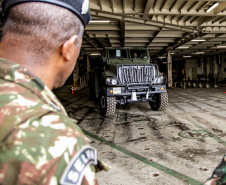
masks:
POLYGON ((149 102, 156 111, 167 107, 166 76, 150 63, 147 49, 105 48, 90 62, 90 95, 99 100, 102 115, 114 115, 116 105, 135 102, 149 102))

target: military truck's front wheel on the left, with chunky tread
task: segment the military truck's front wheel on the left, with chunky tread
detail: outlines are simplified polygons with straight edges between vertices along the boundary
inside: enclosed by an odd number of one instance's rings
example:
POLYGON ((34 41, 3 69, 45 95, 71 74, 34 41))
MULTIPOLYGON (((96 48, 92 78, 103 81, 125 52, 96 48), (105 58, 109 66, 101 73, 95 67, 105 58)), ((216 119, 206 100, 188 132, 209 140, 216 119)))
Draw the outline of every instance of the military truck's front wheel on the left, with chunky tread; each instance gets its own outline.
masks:
POLYGON ((103 116, 113 116, 116 110, 116 98, 108 97, 106 89, 103 88, 100 95, 100 109, 103 116))

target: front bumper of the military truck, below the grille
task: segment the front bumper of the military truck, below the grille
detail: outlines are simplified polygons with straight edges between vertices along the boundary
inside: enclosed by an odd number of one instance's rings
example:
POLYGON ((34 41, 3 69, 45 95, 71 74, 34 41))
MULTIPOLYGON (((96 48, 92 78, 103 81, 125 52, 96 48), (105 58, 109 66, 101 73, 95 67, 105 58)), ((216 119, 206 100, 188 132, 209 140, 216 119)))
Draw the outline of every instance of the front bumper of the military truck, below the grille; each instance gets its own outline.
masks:
POLYGON ((116 97, 117 104, 120 105, 131 102, 154 101, 154 94, 164 92, 166 92, 166 85, 107 87, 107 96, 116 97))

